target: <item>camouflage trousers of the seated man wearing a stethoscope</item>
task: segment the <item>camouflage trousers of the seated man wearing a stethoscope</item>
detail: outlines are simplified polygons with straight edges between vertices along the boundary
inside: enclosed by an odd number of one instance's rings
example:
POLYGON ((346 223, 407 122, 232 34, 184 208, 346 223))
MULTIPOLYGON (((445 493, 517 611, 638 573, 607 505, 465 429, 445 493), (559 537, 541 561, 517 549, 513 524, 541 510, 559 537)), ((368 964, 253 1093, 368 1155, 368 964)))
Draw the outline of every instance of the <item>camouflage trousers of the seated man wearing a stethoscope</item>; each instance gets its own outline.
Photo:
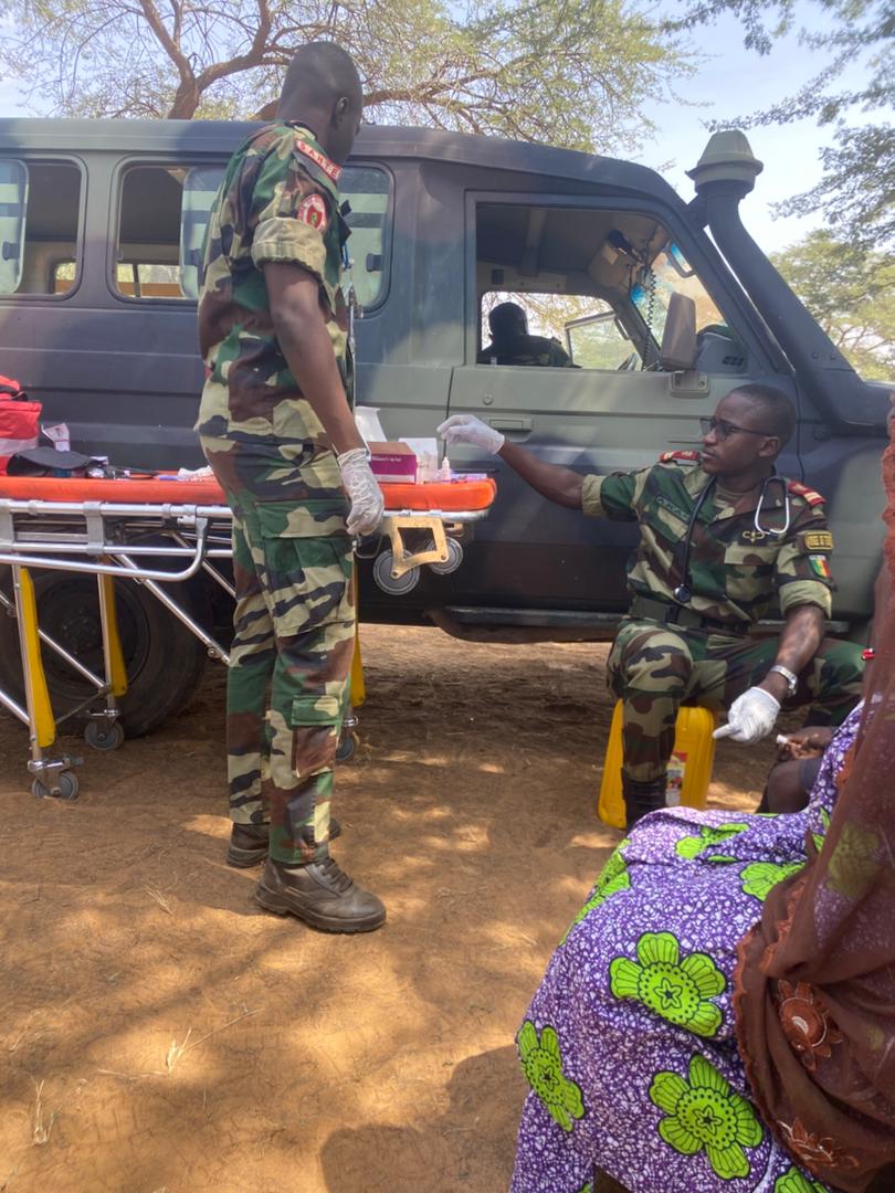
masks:
MULTIPOLYGON (((661 779, 674 748, 681 704, 722 711, 765 678, 776 638, 732 637, 659 622, 628 620, 610 651, 607 682, 622 700, 622 773, 661 779)), ((784 709, 810 705, 807 724, 838 725, 860 699, 860 647, 825 638, 784 709)))

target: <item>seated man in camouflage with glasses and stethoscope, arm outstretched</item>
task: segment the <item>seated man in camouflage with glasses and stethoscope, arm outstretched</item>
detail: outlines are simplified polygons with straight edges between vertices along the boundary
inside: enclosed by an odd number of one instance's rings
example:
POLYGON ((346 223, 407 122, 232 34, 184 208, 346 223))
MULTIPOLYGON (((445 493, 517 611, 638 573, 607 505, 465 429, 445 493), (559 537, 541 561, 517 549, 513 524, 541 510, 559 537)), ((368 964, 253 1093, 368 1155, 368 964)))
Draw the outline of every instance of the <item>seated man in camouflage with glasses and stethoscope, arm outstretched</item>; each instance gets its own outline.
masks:
POLYGON ((715 736, 765 737, 780 706, 810 703, 839 724, 860 696, 860 649, 823 639, 833 580, 823 499, 774 472, 795 427, 789 400, 742 385, 703 420, 703 452, 668 452, 636 472, 580 476, 547 464, 479 419, 439 427, 449 444, 500 456, 543 496, 592 517, 640 524, 628 564, 634 596, 609 657, 623 701, 622 785, 629 827, 665 804, 684 701, 727 709, 715 736), (779 641, 747 637, 774 594, 779 641))

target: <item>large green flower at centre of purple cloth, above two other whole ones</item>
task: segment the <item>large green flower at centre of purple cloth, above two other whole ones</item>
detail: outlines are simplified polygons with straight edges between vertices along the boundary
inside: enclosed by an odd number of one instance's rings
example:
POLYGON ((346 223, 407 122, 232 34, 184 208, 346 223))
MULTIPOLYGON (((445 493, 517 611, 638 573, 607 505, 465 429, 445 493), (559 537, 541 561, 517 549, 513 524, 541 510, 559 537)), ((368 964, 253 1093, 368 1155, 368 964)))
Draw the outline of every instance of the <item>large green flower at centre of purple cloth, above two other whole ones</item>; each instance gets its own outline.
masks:
POLYGON ((721 1012, 709 999, 721 994, 727 981, 708 953, 690 953, 681 960, 680 942, 671 932, 644 932, 637 941, 637 963, 628 957, 611 962, 610 989, 617 999, 636 999, 695 1036, 717 1032, 721 1012))

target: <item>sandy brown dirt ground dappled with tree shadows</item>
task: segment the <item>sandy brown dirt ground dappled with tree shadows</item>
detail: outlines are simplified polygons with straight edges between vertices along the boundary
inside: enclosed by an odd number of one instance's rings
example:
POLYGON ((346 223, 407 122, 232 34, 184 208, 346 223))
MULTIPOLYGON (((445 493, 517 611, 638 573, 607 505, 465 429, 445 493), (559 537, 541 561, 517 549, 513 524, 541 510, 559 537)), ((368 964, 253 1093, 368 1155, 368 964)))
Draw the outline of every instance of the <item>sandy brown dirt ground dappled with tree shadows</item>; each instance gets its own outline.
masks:
MULTIPOLYGON (((605 647, 366 628, 334 853, 389 920, 332 937, 224 865, 223 672, 78 802, 0 719, 0 1193, 498 1193, 513 1034, 619 835, 595 817, 605 647)), ((69 742, 78 749, 78 742, 69 742)), ((753 804, 770 747, 718 749, 753 804)))

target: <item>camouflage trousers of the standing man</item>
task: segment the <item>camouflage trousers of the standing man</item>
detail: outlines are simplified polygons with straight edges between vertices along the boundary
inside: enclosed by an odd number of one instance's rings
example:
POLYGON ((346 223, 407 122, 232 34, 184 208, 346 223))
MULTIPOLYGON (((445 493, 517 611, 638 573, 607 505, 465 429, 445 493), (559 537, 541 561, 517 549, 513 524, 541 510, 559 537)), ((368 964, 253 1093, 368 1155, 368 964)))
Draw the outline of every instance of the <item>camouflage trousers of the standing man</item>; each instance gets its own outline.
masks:
POLYGON ((329 849, 354 649, 352 551, 335 458, 304 443, 203 438, 202 446, 233 512, 230 818, 270 822, 274 861, 316 861, 329 849))

